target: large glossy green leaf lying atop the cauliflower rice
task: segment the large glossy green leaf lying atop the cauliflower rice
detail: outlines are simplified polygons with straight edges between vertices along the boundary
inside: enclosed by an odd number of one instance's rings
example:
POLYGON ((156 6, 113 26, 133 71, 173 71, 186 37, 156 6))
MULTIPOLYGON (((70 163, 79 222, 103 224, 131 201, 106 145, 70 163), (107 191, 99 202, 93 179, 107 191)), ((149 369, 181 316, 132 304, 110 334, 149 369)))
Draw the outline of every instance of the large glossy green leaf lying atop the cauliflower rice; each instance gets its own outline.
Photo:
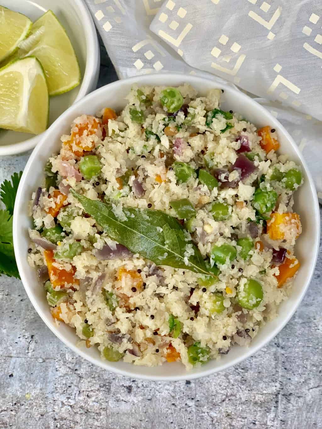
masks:
POLYGON ((134 254, 138 253, 157 265, 213 275, 208 271, 196 245, 186 241, 184 230, 176 218, 160 210, 128 207, 123 208, 125 218, 121 220, 113 213, 111 203, 88 199, 73 189, 70 192, 111 239, 126 246, 134 254), (194 252, 189 257, 188 252, 185 254, 187 245, 194 252))

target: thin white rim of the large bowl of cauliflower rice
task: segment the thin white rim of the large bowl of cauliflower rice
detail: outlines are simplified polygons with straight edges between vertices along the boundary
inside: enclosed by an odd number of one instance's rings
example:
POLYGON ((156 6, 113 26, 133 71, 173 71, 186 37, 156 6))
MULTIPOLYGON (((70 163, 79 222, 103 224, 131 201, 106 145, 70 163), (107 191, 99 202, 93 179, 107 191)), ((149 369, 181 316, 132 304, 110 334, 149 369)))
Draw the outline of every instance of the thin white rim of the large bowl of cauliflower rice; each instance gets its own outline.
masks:
MULTIPOLYGON (((150 376, 150 375, 140 375, 140 374, 135 374, 132 373, 131 371, 128 370, 123 370, 123 369, 118 369, 112 366, 109 366, 108 363, 106 363, 106 361, 103 360, 97 360, 91 356, 88 356, 85 352, 82 351, 81 348, 78 348, 76 346, 76 344, 73 344, 72 342, 70 342, 69 340, 67 340, 67 338, 64 337, 64 335, 61 334, 59 328, 57 326, 54 325, 50 325, 49 323, 47 323, 46 321, 46 317, 43 317, 43 310, 41 309, 41 306, 37 303, 37 299, 36 297, 33 296, 32 290, 29 289, 28 283, 27 283, 27 279, 24 275, 24 271, 22 268, 22 264, 21 264, 21 260, 19 258, 19 252, 18 250, 16 251, 16 249, 18 249, 19 246, 19 234, 18 234, 18 206, 20 205, 20 201, 21 199, 23 199, 24 196, 24 181, 25 178, 27 176, 27 172, 29 171, 30 167, 33 165, 34 160, 36 159, 36 156, 38 154, 38 152, 41 151, 41 147, 43 145, 43 143, 46 142, 46 136, 43 136, 43 139, 41 142, 39 142, 39 145, 37 145, 37 148, 33 151, 33 153, 31 154, 27 165, 24 169, 23 175, 21 177, 21 181, 18 187, 18 192, 17 192, 17 196, 16 196, 16 204, 15 204, 15 209, 14 209, 14 214, 13 214, 13 242, 14 242, 14 249, 15 249, 15 255, 16 255, 16 260, 17 260, 17 266, 18 266, 18 270, 21 276, 21 281, 24 285, 24 289, 26 290, 26 293, 30 299, 30 301, 32 302, 34 308, 36 309, 37 313, 39 314, 39 316, 41 317, 41 319, 43 320, 43 322, 46 323, 46 325, 49 327, 49 329, 61 340, 63 341, 63 343, 65 345, 67 345, 67 347, 69 347, 71 350, 73 350, 74 352, 76 352, 79 356, 82 356, 84 359, 88 360, 89 362, 93 363, 96 366, 99 366, 103 369, 106 369, 108 371, 114 372, 118 375, 125 375, 131 378, 136 378, 136 379, 141 379, 141 380, 151 380, 151 381, 179 381, 179 380, 192 380, 194 378, 200 378, 200 377, 205 377, 207 375, 211 375, 211 374, 215 374, 216 372, 219 371, 223 371, 225 369, 228 369, 231 366, 236 365, 237 363, 240 363, 241 361, 247 359, 248 357, 252 356, 253 354, 255 354, 258 350, 260 350, 262 347, 264 347, 268 342, 270 342, 282 329, 283 327, 286 325, 286 323, 289 322, 289 320, 291 319, 291 317, 293 316, 293 314, 295 313, 295 311, 298 309, 305 293, 307 292, 307 289, 310 285, 311 279, 313 277, 313 272, 316 266, 316 260, 318 257, 318 251, 319 251, 319 238, 320 238, 320 214, 319 214, 319 202, 317 199, 317 194, 316 194, 316 189, 314 186, 314 182, 313 182, 313 178, 310 174, 310 171, 307 167, 307 164, 303 158, 303 155, 301 154, 301 152, 298 149, 298 146, 296 145, 296 143, 294 142, 294 140, 292 139, 292 137, 290 136, 290 134, 286 131, 286 129, 283 127, 282 124, 279 123, 279 121, 270 114, 270 112, 264 107, 261 106, 260 104, 258 104, 255 100, 253 100, 251 97, 249 97, 248 95, 242 93, 241 91, 235 89, 234 87, 232 87, 229 83, 228 84, 223 84, 222 82, 217 82, 216 79, 207 79, 205 77, 201 77, 201 76, 184 76, 180 73, 154 73, 152 75, 149 75, 150 79, 154 79, 154 77, 156 76, 155 80, 157 80, 158 78, 160 78, 162 76, 162 79, 164 80, 164 82, 167 81, 167 78, 174 78, 177 79, 178 81, 178 85, 179 82, 181 80, 184 81, 185 83, 188 83, 191 81, 191 85, 193 85, 194 82, 198 81, 200 83, 206 83, 207 82, 211 82, 213 83, 218 83, 218 88, 222 88, 224 90, 227 91, 232 91, 233 93, 235 93, 237 95, 237 97, 239 97, 241 100, 245 100, 247 103, 251 103, 253 104, 254 107, 256 107, 256 109, 259 109, 261 112, 264 113, 265 116, 267 116, 271 123, 275 123, 278 124, 276 126, 276 128, 280 131, 282 131, 284 133, 284 135, 286 136, 286 138, 288 139, 288 143, 293 146, 293 149, 295 149, 296 154, 298 155, 298 157, 300 158, 304 170, 307 174, 307 178, 309 181, 309 185, 310 185, 310 192, 312 194, 312 198, 314 201, 314 207, 311 208, 311 213, 314 216, 314 223, 315 223, 315 228, 318 231, 317 237, 316 237, 316 242, 315 242, 315 249, 314 249, 314 258, 313 260, 310 261, 310 269, 309 269, 309 275, 307 276, 306 282, 304 287, 302 287, 301 289, 301 293, 298 296, 298 298, 296 299, 296 302, 293 304, 292 310, 289 311, 287 317, 285 318, 285 320, 283 320, 283 323, 279 324, 278 326, 276 326, 274 329, 272 329, 272 331, 270 332, 269 335, 267 335, 263 340, 259 341, 259 344, 257 344, 255 347, 253 348, 249 348, 245 353, 241 353, 240 356, 237 356, 236 358, 234 358, 233 360, 227 362, 227 363, 223 363, 221 366, 219 367, 215 367, 215 368, 211 368, 211 369, 207 369, 204 371, 200 371, 197 373, 193 373, 193 372, 186 372, 186 374, 184 375, 179 375, 179 376, 150 376)), ((109 87, 109 91, 117 91, 118 86, 122 86, 124 83, 125 84, 140 84, 141 80, 145 80, 147 78, 146 75, 141 75, 141 76, 134 76, 128 79, 122 79, 121 81, 116 81, 116 82, 112 82, 108 85, 105 85, 101 88, 98 88, 96 91, 93 91, 91 94, 88 94, 86 97, 84 97, 82 100, 80 100, 78 103, 74 104, 73 106, 70 106, 69 109, 67 109, 48 129, 48 134, 50 134, 51 130, 54 129, 54 127, 56 127, 59 123, 64 123, 64 118, 65 116, 67 116, 73 109, 75 109, 75 111, 78 109, 79 106, 82 106, 82 104, 85 104, 88 100, 94 100, 97 97, 97 100, 100 100, 99 94, 101 91, 104 91, 106 89, 106 87, 109 87)), ((153 83, 151 84, 145 84, 145 85, 153 85, 153 83)))

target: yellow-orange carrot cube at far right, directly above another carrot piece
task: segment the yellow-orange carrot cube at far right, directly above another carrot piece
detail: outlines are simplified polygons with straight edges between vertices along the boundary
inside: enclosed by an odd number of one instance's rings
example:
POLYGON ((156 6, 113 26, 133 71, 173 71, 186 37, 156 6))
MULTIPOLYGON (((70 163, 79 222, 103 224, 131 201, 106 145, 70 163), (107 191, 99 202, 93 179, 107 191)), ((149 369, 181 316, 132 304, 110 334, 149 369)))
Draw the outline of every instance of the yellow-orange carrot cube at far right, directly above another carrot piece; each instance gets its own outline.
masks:
POLYGON ((267 234, 272 240, 284 240, 286 234, 301 234, 302 226, 297 213, 272 213, 267 222, 267 234))

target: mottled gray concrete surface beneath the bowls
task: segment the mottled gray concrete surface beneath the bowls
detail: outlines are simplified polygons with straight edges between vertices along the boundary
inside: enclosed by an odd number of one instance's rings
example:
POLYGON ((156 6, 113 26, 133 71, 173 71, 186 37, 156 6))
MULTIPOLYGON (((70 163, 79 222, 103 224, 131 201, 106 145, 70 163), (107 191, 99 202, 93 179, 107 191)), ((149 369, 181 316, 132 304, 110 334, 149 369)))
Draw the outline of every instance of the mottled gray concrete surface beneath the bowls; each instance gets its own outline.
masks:
MULTIPOLYGON (((100 85, 116 75, 102 49, 100 85)), ((0 182, 28 154, 0 158, 0 182)), ((239 366, 195 381, 118 377, 72 353, 45 326, 21 281, 0 277, 0 428, 322 428, 322 253, 300 308, 239 366)))

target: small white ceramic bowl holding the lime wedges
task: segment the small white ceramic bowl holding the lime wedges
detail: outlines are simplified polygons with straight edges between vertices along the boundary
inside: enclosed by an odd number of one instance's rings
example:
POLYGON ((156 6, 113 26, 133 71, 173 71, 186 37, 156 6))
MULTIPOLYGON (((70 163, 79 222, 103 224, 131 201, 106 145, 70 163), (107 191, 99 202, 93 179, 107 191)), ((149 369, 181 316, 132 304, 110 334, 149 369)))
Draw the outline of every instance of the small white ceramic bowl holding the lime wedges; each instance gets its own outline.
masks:
MULTIPOLYGON (((36 21, 51 9, 70 37, 79 60, 82 81, 72 91, 50 98, 49 125, 51 125, 68 107, 97 87, 100 50, 91 14, 83 0, 1 0, 0 4, 23 13, 31 21, 36 21)), ((1 131, 0 156, 33 149, 43 135, 44 133, 34 136, 10 130, 1 131)))

